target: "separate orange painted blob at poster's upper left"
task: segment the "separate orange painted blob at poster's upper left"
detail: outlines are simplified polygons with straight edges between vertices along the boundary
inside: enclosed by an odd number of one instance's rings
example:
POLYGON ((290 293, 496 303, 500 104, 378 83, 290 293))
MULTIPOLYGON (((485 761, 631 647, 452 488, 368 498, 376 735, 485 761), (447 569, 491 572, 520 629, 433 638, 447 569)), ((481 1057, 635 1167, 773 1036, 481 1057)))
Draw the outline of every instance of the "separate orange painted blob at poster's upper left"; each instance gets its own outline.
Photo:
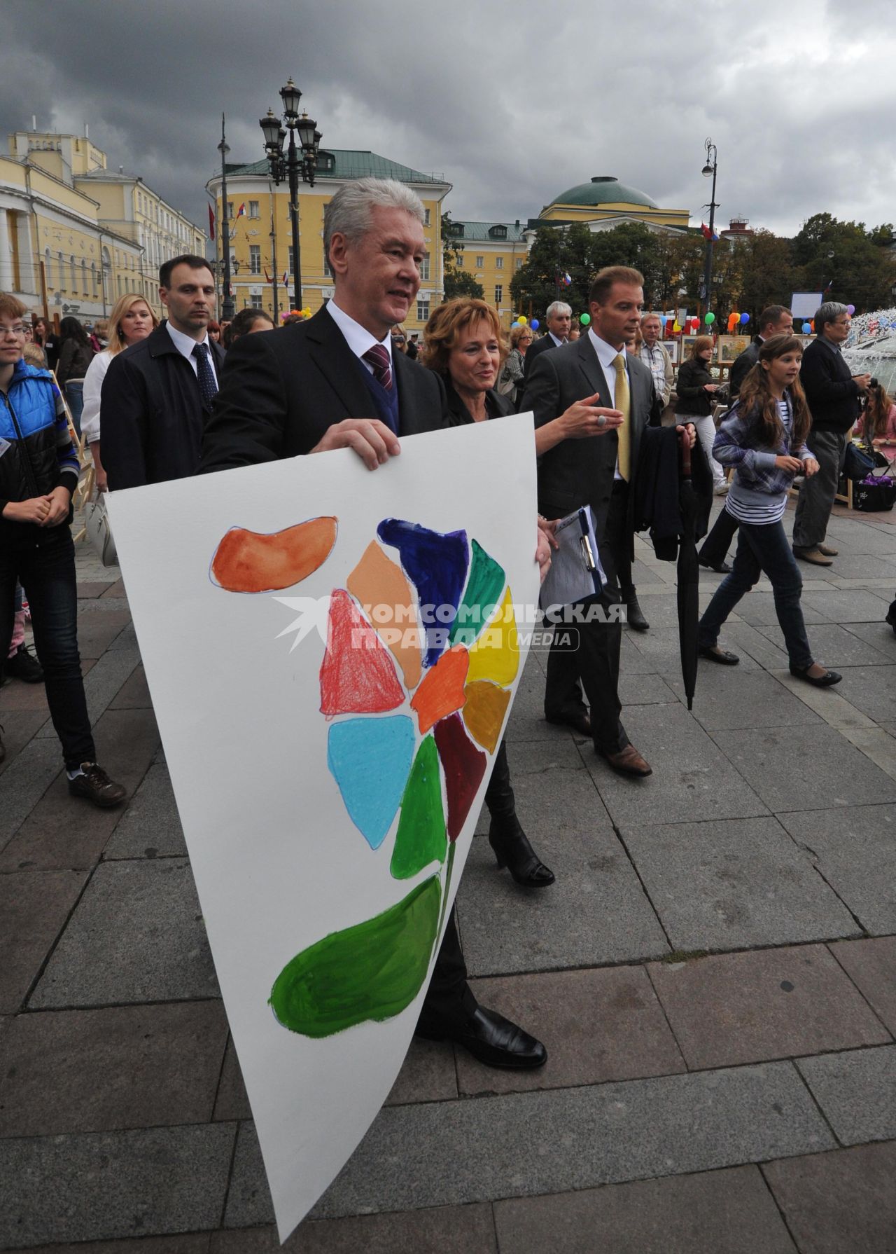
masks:
POLYGON ((269 534, 232 527, 214 551, 212 578, 227 592, 291 588, 323 566, 336 532, 336 518, 310 518, 269 534))

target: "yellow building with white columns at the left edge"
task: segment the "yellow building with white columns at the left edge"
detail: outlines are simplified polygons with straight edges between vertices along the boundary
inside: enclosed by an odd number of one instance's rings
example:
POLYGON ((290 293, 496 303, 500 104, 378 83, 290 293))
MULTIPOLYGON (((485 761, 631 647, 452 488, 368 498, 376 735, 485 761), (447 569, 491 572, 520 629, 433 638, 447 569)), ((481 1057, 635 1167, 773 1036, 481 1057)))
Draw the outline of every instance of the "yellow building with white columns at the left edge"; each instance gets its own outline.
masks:
POLYGON ((86 133, 16 132, 9 149, 0 157, 0 288, 50 319, 90 322, 125 292, 160 314, 159 261, 204 256, 203 232, 142 179, 108 171, 86 133))

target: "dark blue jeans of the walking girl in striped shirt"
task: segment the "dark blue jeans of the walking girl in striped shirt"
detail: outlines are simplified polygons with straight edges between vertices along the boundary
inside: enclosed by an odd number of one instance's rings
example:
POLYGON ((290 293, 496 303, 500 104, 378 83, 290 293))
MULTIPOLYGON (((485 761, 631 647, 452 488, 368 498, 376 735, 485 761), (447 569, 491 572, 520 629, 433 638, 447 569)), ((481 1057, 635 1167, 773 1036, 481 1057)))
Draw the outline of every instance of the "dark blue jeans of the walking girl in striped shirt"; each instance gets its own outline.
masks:
POLYGON ((712 648, 722 623, 764 571, 774 592, 774 612, 784 633, 791 666, 801 671, 812 665, 806 623, 800 606, 802 576, 784 534, 783 523, 741 523, 737 553, 727 574, 707 606, 698 628, 698 642, 712 648))

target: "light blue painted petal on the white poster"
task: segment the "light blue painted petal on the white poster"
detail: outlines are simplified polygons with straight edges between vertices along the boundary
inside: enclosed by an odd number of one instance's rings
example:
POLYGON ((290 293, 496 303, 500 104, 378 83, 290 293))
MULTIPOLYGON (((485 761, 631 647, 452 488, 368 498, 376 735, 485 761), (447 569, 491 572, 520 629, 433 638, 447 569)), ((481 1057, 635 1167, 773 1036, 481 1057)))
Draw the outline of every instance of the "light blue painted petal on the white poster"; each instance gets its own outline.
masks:
POLYGON ((371 849, 386 839, 414 757, 414 720, 347 719, 327 740, 327 766, 352 823, 371 849))

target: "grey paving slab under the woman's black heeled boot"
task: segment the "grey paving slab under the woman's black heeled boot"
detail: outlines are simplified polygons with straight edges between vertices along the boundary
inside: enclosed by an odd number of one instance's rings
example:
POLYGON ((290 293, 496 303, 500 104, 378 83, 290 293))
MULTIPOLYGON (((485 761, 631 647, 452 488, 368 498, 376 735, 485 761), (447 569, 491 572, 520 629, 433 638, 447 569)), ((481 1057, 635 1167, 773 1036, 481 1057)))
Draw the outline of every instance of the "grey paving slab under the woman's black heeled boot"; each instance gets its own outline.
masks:
POLYGON ((585 771, 520 775, 516 811, 556 875, 520 888, 477 836, 457 890, 471 976, 658 958, 668 943, 585 771))

